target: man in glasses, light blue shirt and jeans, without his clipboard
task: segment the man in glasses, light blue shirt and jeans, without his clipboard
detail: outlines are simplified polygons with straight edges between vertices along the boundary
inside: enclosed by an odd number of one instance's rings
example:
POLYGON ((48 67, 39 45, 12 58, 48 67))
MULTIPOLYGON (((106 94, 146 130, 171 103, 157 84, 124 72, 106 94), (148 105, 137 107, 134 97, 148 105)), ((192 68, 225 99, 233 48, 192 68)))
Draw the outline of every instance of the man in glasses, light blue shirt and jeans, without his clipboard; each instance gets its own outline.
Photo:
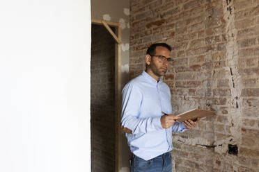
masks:
POLYGON ((196 122, 175 121, 171 93, 161 76, 166 74, 171 46, 152 44, 146 53, 146 71, 123 89, 121 124, 132 151, 131 172, 172 171, 172 132, 194 128, 196 122))

